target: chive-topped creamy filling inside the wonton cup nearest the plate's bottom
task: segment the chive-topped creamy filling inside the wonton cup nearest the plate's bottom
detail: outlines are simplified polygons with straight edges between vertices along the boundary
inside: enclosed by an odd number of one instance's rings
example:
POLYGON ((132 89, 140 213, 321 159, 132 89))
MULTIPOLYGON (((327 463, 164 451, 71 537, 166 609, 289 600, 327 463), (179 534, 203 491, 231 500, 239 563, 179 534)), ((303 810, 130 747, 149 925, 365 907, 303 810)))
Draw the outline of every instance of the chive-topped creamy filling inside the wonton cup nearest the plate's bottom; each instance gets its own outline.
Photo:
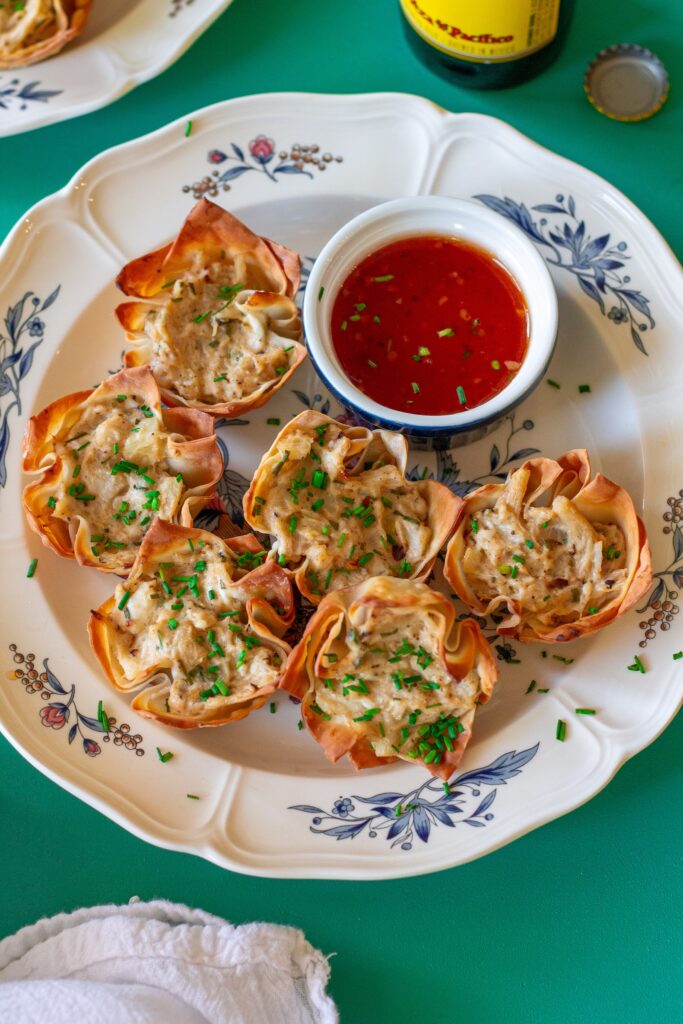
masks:
POLYGON ((362 631, 346 623, 318 654, 314 714, 360 726, 379 757, 439 764, 476 700, 475 671, 457 680, 442 663, 430 616, 383 609, 362 631))

